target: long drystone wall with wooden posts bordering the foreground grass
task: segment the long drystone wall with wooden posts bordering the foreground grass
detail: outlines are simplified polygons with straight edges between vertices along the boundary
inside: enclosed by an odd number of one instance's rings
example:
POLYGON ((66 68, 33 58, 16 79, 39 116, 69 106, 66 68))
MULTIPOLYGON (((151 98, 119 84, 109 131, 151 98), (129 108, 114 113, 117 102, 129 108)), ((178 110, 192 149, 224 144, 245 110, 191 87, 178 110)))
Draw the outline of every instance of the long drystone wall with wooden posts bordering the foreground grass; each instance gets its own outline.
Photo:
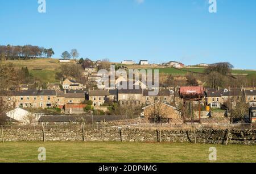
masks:
MULTIPOLYGON (((12 129, 4 128, 5 142, 43 141, 41 129, 12 129)), ((82 141, 81 127, 44 129, 46 141, 82 141)), ((228 129, 141 129, 135 127, 122 128, 124 142, 195 142, 197 143, 225 144, 228 129)), ((117 127, 106 129, 84 130, 85 141, 121 141, 117 127)), ((1 137, 1 135, 0 135, 1 137)), ((230 129, 229 144, 256 144, 255 129, 230 129)), ((2 141, 2 137, 0 138, 2 141)))

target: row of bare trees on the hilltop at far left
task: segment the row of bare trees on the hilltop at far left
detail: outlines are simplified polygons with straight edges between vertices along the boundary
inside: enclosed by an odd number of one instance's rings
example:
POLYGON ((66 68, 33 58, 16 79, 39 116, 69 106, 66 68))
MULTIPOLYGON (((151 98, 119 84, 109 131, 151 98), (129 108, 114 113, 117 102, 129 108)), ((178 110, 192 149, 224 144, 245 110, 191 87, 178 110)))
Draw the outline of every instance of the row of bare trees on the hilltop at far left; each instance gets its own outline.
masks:
POLYGON ((20 60, 20 59, 36 59, 47 57, 51 58, 54 55, 52 48, 44 48, 34 45, 0 45, 1 60, 20 60))

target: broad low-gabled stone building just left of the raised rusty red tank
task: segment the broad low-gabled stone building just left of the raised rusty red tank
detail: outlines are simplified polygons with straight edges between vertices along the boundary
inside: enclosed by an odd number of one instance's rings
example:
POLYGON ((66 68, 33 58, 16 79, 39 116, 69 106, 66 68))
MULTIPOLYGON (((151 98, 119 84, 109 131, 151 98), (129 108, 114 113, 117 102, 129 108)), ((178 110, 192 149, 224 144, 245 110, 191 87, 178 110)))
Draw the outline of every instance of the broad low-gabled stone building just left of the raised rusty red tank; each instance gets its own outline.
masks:
POLYGON ((143 116, 153 118, 155 114, 162 118, 181 118, 181 111, 176 107, 163 102, 156 102, 152 105, 143 107, 143 116))

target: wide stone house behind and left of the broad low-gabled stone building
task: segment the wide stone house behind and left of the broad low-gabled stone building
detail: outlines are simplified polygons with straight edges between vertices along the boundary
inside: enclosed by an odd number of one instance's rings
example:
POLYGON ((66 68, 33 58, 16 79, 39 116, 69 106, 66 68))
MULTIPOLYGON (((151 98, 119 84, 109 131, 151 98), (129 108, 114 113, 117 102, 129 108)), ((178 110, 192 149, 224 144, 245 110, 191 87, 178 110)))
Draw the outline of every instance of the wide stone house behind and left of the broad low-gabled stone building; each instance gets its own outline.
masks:
POLYGON ((118 90, 118 102, 122 106, 134 105, 141 106, 143 104, 142 89, 122 89, 118 90))

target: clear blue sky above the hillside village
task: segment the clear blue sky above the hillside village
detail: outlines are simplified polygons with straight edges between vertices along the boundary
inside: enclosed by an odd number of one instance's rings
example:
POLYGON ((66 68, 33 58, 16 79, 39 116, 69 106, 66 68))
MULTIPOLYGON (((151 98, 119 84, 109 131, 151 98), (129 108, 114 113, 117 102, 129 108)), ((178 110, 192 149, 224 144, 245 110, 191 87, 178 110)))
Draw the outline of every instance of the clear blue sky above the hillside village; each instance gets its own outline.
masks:
POLYGON ((0 1, 0 44, 77 48, 80 57, 184 64, 229 61, 256 69, 256 1, 217 0, 0 1))

